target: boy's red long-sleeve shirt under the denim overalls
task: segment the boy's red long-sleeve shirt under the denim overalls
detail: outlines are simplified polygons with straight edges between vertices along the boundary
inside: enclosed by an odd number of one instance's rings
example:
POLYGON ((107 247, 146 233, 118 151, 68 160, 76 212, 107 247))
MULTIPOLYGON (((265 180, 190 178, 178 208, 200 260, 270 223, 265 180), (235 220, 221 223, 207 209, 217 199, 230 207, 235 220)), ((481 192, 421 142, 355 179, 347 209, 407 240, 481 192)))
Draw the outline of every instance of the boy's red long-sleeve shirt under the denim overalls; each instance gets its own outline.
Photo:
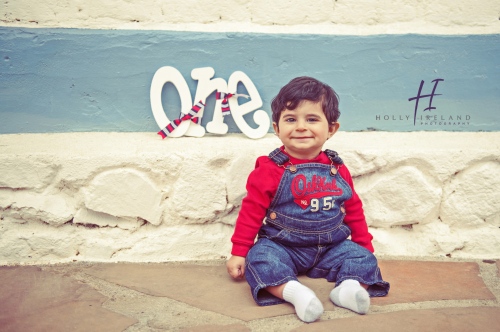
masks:
MULTIPOLYGON (((281 147, 281 150, 283 150, 283 147, 281 147)), ((284 153, 286 154, 286 152, 284 153)), ((306 162, 331 163, 324 152, 319 153, 312 160, 296 159, 290 155, 288 156, 290 162, 294 165, 306 162)), ((284 168, 276 165, 267 156, 257 158, 255 169, 248 175, 246 182, 247 195, 243 198, 234 234, 231 237, 231 254, 244 257, 253 246, 255 236, 262 225, 267 208, 274 197, 283 172, 284 168)), ((371 244, 373 236, 368 232, 362 203, 354 191, 349 170, 345 165, 341 165, 338 167, 338 172, 352 189, 352 197, 344 202, 346 213, 343 222, 351 228, 352 241, 373 252, 371 244)))

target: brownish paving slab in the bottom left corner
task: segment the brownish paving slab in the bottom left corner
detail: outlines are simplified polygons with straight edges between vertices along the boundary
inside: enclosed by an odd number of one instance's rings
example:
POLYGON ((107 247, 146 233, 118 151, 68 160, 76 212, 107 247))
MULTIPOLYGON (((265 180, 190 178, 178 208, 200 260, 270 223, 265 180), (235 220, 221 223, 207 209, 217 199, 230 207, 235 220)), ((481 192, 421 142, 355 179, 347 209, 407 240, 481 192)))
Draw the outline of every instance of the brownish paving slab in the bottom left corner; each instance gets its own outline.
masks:
POLYGON ((87 284, 36 266, 0 267, 1 331, 122 331, 136 319, 101 306, 87 284))

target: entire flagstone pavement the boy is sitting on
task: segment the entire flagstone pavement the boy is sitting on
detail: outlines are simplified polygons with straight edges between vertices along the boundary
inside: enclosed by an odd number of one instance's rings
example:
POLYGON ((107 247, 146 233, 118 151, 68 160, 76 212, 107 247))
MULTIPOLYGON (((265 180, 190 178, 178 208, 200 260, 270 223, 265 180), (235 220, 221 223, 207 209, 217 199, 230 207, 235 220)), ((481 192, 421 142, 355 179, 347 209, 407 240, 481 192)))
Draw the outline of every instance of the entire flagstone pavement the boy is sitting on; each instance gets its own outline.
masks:
POLYGON ((0 266, 0 331, 500 331, 499 260, 379 257, 387 296, 367 314, 333 305, 333 284, 300 276, 323 302, 259 307, 225 260, 0 266))

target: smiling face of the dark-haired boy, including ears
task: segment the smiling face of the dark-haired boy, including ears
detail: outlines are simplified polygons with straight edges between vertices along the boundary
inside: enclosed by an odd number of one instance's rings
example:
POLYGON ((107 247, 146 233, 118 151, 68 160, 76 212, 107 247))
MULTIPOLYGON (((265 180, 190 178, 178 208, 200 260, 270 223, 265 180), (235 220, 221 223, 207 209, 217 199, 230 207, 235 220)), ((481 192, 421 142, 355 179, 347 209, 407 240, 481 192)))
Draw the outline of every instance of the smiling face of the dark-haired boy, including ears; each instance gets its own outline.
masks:
POLYGON ((279 122, 272 122, 284 150, 297 159, 314 159, 324 142, 338 129, 338 122, 329 125, 320 102, 303 100, 295 109, 284 109, 279 122))

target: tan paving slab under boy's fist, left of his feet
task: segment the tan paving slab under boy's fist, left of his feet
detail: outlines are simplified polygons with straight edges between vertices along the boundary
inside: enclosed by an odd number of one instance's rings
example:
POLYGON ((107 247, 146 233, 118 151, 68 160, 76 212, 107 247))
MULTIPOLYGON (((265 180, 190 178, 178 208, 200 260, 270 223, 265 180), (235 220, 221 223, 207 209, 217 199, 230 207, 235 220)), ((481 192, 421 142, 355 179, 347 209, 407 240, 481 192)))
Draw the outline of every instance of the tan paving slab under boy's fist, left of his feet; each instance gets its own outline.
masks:
POLYGON ((165 296, 245 321, 294 313, 291 304, 258 306, 245 280, 225 266, 98 264, 86 273, 153 296, 165 296))

